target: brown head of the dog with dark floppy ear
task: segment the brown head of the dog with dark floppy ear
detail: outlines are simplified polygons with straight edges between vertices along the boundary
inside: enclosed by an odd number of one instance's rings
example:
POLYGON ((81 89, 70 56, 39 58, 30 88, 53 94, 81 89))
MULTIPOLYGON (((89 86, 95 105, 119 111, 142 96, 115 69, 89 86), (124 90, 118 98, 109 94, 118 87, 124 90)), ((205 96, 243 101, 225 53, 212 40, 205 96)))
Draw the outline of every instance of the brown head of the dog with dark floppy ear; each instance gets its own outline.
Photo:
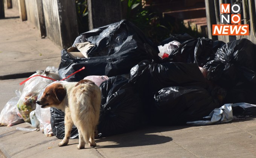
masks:
POLYGON ((36 102, 41 105, 41 108, 55 107, 60 109, 58 105, 64 100, 66 90, 62 84, 56 83, 46 87, 43 96, 36 102))

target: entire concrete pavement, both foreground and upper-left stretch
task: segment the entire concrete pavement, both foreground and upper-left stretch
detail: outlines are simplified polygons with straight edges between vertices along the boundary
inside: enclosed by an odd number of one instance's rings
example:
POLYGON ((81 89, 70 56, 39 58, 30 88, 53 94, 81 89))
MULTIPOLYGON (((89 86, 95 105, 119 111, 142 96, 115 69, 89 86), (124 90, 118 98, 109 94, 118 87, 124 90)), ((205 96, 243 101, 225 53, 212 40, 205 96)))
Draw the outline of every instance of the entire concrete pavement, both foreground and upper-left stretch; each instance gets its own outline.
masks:
MULTIPOLYGON (((18 12, 6 9, 6 19, 0 20, 0 76, 18 78, 27 72, 58 67, 60 49, 49 39, 41 39, 29 22, 21 22, 18 12)), ((26 78, 0 80, 0 111, 19 83, 26 78)), ((177 118, 178 119, 178 118, 177 118)), ((25 123, 0 127, 0 157, 171 157, 171 158, 233 158, 256 157, 256 118, 236 120, 211 126, 146 126, 133 132, 96 140, 97 147, 78 150, 78 140, 58 147, 56 137, 46 137, 40 131, 24 132, 17 127, 25 123)))

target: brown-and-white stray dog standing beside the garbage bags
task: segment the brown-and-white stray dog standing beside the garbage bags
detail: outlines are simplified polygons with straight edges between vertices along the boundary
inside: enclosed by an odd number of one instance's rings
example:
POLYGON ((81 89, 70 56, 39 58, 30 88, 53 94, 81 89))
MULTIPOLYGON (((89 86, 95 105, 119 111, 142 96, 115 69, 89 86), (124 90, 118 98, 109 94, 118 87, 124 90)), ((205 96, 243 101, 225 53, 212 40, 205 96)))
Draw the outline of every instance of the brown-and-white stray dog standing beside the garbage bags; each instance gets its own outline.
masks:
POLYGON ((96 146, 94 130, 99 121, 101 89, 93 81, 54 83, 36 102, 41 108, 54 107, 65 112, 65 136, 58 146, 69 143, 73 124, 78 129, 78 149, 84 149, 86 143, 96 146))

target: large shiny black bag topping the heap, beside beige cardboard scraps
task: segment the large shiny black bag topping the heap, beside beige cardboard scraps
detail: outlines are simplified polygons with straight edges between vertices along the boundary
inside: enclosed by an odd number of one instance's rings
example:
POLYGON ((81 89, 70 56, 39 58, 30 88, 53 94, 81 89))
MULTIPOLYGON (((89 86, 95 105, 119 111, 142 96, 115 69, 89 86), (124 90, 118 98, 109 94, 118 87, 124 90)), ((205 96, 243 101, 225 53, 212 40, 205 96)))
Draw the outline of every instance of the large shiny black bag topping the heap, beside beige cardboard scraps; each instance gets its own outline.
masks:
MULTIPOLYGON (((66 81, 80 81, 90 75, 108 77, 129 73, 131 68, 145 59, 152 59, 144 44, 157 47, 146 38, 142 31, 127 20, 99 27, 79 35, 75 42, 94 44, 87 51, 89 58, 72 58, 66 50, 61 51, 59 76, 65 78, 83 66, 85 70, 76 73, 66 81)), ((74 46, 73 45, 73 46, 74 46)), ((154 56, 158 56, 154 54, 154 56)))

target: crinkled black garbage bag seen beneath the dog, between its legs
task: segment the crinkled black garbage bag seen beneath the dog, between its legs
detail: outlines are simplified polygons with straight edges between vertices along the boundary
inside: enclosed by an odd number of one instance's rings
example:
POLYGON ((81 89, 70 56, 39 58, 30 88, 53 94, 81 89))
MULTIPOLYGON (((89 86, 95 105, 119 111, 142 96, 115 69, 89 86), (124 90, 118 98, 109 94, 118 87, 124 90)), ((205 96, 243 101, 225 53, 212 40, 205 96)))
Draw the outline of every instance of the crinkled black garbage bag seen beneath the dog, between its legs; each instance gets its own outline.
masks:
MULTIPOLYGON (((51 112, 50 122, 51 122, 53 135, 55 135, 55 137, 59 139, 63 139, 65 136, 65 125, 64 125, 65 114, 64 112, 56 108, 50 108, 50 112, 51 112)), ((77 138, 79 138, 78 129, 76 128, 75 125, 73 125, 72 131, 70 134, 70 139, 77 139, 77 138)))

